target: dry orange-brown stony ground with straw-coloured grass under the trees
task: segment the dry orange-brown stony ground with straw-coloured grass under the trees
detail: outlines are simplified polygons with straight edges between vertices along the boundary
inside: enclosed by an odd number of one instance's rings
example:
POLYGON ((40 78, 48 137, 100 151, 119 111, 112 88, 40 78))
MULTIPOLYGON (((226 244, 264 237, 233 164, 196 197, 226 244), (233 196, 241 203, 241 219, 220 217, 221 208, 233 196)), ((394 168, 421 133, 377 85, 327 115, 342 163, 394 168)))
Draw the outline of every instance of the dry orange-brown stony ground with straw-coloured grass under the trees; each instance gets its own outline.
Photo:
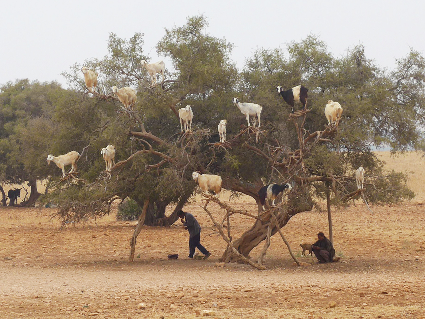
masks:
MULTIPOLYGON (((423 165, 416 154, 380 156, 390 169, 407 167, 409 185, 423 198, 423 165)), ((222 200, 256 211, 250 197, 223 194, 222 200)), ((293 266, 280 236, 273 236, 265 271, 236 263, 216 267, 226 243, 200 204, 196 196, 184 210, 200 222, 209 259, 187 258, 188 233, 176 223, 144 227, 133 263, 127 259, 136 222, 117 222, 116 211, 60 229, 49 218, 53 209, 0 207, 0 318, 190 319, 196 311, 214 310, 223 319, 425 319, 425 207, 416 200, 372 206, 373 215, 361 203, 332 208, 339 262, 293 266), (169 253, 179 258, 168 260, 169 253)), ((222 216, 218 206, 209 207, 222 216)), ((233 238, 250 225, 246 216, 232 218, 233 238)), ((327 233, 327 215, 297 214, 282 231, 299 259, 311 261, 300 257, 299 244, 327 233)), ((252 259, 261 248, 251 252, 252 259)))

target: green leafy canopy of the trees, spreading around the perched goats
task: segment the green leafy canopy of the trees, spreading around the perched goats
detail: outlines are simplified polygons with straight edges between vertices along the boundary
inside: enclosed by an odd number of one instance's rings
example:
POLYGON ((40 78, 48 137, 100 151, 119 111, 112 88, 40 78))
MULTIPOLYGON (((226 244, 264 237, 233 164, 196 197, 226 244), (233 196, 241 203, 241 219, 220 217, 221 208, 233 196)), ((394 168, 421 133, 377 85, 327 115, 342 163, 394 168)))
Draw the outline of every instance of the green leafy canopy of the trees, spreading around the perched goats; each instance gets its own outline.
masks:
MULTIPOLYGON (((210 35, 207 19, 200 15, 165 29, 156 48, 172 64, 166 66, 164 83, 152 87, 140 66, 149 60, 143 44, 143 34, 125 40, 111 33, 105 57, 75 63, 63 73, 69 89, 29 80, 3 85, 1 182, 48 179, 43 201, 59 204, 57 216, 63 222, 102 216, 111 202, 130 197, 140 207, 149 206, 147 225, 176 221, 176 211, 197 189, 193 171, 220 175, 224 188, 248 194, 258 204, 262 185, 294 182, 289 218, 312 209, 314 198, 326 198, 328 188, 335 203, 348 202, 357 189, 354 169, 360 165, 367 174, 364 195, 369 202, 414 196, 406 176, 384 172, 372 151, 372 146, 385 145, 406 151, 421 142, 425 63, 414 49, 388 71, 368 58, 361 44, 334 57, 326 43, 309 35, 286 48, 257 49, 239 71, 230 58, 232 44, 210 35), (85 88, 82 66, 99 73, 97 93, 85 88), (276 87, 299 84, 309 89, 309 112, 288 120, 290 107, 276 87), (112 96, 113 85, 136 90, 133 111, 112 96), (234 97, 263 107, 261 128, 246 128, 234 97), (323 114, 328 100, 344 109, 337 130, 327 126, 323 114), (191 134, 180 134, 178 108, 185 105, 195 114, 191 134), (222 119, 227 119, 229 141, 220 144, 217 125, 222 119), (116 147, 111 174, 104 172, 100 156, 108 144, 116 147), (46 165, 48 154, 83 149, 78 179, 59 181, 60 170, 46 165), (178 205, 165 216, 170 203, 178 205)), ((281 218, 280 227, 289 218, 281 218)), ((247 255, 265 238, 258 229, 256 224, 250 230, 257 232, 256 240, 241 240, 241 253, 247 255)))

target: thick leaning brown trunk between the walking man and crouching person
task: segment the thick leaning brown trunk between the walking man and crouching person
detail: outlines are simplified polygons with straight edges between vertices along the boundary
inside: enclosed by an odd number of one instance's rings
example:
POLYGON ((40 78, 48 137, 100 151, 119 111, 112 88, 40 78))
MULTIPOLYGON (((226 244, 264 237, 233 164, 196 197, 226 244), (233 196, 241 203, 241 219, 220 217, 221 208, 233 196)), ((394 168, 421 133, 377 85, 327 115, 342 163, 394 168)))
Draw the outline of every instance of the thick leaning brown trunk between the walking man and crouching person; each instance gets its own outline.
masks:
MULTIPOLYGON (((279 221, 279 227, 282 228, 285 226, 289 219, 292 218, 292 216, 295 216, 296 214, 303 212, 303 211, 311 211, 313 208, 313 202, 311 197, 307 197, 307 199, 303 198, 300 200, 296 200, 296 204, 288 201, 288 204, 291 205, 288 211, 288 214, 285 214, 282 216, 281 214, 279 216, 276 216, 279 221)), ((264 239, 267 237, 267 229, 269 228, 269 223, 263 223, 260 220, 256 219, 254 225, 246 231, 244 234, 242 234, 241 237, 236 239, 233 242, 233 247, 242 255, 247 257, 249 253, 257 247, 264 239)), ((278 228, 273 227, 272 228, 272 236, 278 232, 278 228)), ((227 248, 226 251, 224 251, 223 255, 220 258, 221 262, 230 262, 233 260, 233 253, 232 250, 227 248)), ((237 260, 235 258, 235 260, 237 260)))

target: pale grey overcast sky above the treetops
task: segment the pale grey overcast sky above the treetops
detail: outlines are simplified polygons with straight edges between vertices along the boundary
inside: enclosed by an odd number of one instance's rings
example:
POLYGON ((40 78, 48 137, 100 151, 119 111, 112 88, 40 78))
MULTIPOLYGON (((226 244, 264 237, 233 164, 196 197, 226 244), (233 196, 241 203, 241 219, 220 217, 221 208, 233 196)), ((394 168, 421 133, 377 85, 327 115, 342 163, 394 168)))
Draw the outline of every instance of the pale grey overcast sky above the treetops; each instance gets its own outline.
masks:
POLYGON ((394 68, 409 46, 425 49, 425 1, 2 1, 0 84, 21 78, 57 80, 75 62, 107 53, 110 32, 129 39, 144 33, 144 53, 164 27, 204 14, 208 32, 235 45, 232 60, 242 68, 256 48, 285 44, 315 34, 339 57, 358 43, 379 66, 394 68), (28 2, 28 3, 27 3, 28 2))

